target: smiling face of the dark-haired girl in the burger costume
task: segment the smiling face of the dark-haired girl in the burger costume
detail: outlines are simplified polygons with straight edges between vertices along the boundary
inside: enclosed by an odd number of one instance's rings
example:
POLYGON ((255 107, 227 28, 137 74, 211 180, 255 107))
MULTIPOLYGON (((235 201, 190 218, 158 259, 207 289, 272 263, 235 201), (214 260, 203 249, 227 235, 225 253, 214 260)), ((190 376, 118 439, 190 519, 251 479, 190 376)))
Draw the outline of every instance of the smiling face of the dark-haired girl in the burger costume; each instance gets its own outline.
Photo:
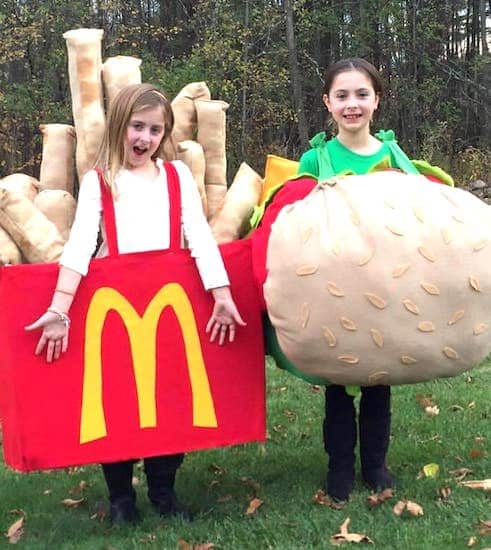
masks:
POLYGON ((322 99, 340 134, 370 132, 379 98, 367 74, 356 69, 339 73, 322 99))

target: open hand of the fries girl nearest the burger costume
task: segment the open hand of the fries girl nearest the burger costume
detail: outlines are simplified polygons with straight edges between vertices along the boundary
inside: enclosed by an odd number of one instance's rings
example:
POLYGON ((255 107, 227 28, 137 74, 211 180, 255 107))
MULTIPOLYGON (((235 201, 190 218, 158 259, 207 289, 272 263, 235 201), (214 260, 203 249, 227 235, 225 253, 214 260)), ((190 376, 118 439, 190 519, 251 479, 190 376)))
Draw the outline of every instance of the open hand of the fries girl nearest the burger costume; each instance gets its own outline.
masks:
POLYGON ((228 287, 214 288, 211 292, 215 298, 215 305, 206 325, 206 332, 210 333, 210 342, 214 342, 218 337, 218 344, 221 346, 226 340, 227 331, 228 341, 233 342, 236 324, 244 327, 246 323, 240 316, 228 287))

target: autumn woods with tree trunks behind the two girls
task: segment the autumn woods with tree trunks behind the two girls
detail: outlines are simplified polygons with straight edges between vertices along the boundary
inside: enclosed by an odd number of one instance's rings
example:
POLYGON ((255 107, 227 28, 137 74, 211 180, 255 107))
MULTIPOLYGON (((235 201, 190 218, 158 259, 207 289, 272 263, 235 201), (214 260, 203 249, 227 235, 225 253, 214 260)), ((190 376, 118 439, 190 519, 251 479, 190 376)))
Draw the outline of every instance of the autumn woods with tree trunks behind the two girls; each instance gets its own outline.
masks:
POLYGON ((365 57, 386 94, 374 125, 411 156, 489 179, 490 0, 0 0, 0 177, 38 175, 40 123, 70 123, 63 32, 103 28, 103 59, 140 57, 170 96, 204 80, 230 104, 230 173, 297 158, 326 126, 326 67, 365 57))

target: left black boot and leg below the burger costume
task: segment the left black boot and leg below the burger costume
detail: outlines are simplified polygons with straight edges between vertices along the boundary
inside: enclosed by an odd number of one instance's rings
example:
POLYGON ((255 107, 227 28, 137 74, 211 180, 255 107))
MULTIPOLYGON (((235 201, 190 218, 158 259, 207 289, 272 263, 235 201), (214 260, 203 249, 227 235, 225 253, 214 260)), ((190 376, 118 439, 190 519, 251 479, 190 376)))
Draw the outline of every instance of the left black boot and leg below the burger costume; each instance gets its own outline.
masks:
POLYGON ((355 480, 356 421, 353 397, 344 386, 326 387, 324 448, 329 455, 327 493, 337 502, 348 500, 355 480))

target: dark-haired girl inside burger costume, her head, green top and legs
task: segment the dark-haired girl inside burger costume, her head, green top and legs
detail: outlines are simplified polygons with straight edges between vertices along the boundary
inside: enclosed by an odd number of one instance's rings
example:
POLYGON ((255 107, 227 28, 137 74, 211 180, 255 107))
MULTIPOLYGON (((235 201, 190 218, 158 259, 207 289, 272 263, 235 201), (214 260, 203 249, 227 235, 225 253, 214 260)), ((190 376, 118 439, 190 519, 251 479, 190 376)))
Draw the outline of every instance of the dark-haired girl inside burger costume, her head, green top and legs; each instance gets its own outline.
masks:
MULTIPOLYGON (((310 141, 312 148, 300 159, 298 174, 325 181, 335 175, 398 169, 409 174, 426 172, 431 179, 452 185, 452 179, 439 168, 410 161, 391 130, 370 133, 381 96, 382 81, 373 65, 359 58, 333 64, 326 75, 322 100, 331 113, 337 134, 329 140, 325 132, 314 136, 310 141)), ((348 499, 355 479, 356 393, 355 388, 326 386, 323 439, 329 456, 327 492, 335 501, 348 499)), ((385 463, 390 423, 390 386, 362 386, 358 415, 361 474, 374 491, 394 484, 385 463)))

